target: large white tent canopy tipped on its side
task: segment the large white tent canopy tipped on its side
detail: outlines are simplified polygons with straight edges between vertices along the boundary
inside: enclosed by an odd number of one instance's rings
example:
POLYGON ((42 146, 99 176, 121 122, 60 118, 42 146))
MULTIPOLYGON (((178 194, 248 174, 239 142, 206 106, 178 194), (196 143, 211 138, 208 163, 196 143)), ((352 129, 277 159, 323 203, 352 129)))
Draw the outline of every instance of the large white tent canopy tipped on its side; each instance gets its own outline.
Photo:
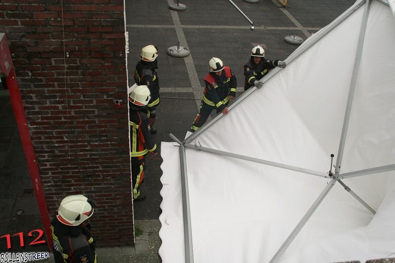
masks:
POLYGON ((357 1, 229 114, 162 142, 162 262, 395 257, 394 43, 388 2, 357 1))

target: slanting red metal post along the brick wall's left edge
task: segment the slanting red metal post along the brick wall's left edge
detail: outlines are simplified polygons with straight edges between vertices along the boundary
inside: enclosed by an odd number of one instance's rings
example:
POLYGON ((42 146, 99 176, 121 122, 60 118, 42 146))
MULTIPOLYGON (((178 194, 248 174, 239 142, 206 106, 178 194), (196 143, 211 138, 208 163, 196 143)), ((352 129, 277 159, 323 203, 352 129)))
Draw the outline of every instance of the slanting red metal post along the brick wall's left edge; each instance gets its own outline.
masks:
POLYGON ((52 231, 50 228, 51 222, 49 219, 48 208, 46 206, 44 191, 41 184, 39 167, 36 162, 36 155, 34 153, 32 139, 30 137, 29 127, 23 109, 21 93, 19 91, 18 81, 16 79, 15 69, 12 64, 11 54, 8 48, 8 43, 5 35, 0 35, 0 69, 3 75, 6 76, 6 83, 9 90, 9 95, 14 109, 16 123, 18 125, 19 135, 21 137, 23 150, 25 152, 26 162, 28 165, 30 177, 32 178, 33 188, 36 194, 37 203, 40 209, 42 224, 45 229, 48 247, 52 249, 52 231))

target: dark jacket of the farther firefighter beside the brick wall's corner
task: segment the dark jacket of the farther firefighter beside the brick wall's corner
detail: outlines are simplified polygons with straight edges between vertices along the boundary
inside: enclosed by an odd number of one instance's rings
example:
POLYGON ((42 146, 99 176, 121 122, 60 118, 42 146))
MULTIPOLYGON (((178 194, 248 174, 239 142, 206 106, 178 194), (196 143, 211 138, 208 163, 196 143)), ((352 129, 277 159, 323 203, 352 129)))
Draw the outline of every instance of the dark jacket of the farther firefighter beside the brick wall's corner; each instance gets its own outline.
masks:
POLYGON ((147 62, 139 61, 134 70, 134 81, 137 85, 146 85, 151 92, 151 100, 148 107, 154 107, 159 104, 159 80, 157 76, 157 61, 147 62))

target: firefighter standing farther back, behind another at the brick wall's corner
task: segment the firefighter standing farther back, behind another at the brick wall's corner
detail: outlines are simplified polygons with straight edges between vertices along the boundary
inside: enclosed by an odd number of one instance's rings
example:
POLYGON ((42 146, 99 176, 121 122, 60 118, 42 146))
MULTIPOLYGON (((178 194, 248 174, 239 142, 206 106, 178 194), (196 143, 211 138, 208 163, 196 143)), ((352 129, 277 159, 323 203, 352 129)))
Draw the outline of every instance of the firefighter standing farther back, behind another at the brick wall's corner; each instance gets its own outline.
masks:
POLYGON ((158 48, 153 45, 145 46, 141 49, 140 61, 134 71, 134 80, 137 85, 146 85, 151 92, 151 100, 148 102, 148 117, 151 123, 151 133, 156 133, 154 129, 157 117, 156 109, 159 105, 159 80, 156 69, 158 68, 158 48))

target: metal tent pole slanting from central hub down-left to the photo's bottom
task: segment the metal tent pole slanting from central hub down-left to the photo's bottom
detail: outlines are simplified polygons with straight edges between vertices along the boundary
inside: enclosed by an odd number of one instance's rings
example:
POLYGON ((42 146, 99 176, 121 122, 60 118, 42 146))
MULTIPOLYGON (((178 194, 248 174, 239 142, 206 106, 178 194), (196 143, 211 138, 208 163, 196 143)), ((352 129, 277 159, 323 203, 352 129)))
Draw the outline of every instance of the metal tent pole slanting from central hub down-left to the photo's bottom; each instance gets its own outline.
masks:
POLYGON ((285 250, 288 248, 288 246, 291 244, 293 239, 296 237, 296 235, 302 230, 303 226, 307 223, 309 218, 313 215, 314 211, 316 211, 317 207, 319 204, 322 202, 324 197, 329 193, 329 191, 332 189, 332 187, 335 185, 337 178, 333 178, 330 180, 328 185, 325 187, 325 189, 321 192, 321 194, 317 197, 316 201, 313 203, 313 205, 309 208, 309 210, 306 212, 306 214, 303 216, 303 218, 299 221, 298 225, 292 230, 290 235, 287 237, 287 239, 282 243, 281 247, 277 250, 276 254, 273 256, 273 258, 270 260, 270 263, 275 263, 278 261, 278 259, 282 256, 282 254, 285 252, 285 250))

